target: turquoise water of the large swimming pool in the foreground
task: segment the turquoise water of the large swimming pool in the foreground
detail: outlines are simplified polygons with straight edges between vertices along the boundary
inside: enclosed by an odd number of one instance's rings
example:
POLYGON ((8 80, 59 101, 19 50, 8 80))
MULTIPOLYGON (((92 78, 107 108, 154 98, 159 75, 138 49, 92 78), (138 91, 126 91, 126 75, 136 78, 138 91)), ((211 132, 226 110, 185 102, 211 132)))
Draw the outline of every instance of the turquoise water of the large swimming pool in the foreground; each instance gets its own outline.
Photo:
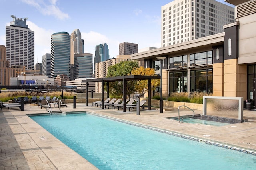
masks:
POLYGON ((31 116, 31 119, 100 170, 256 167, 256 156, 251 154, 86 113, 31 116))

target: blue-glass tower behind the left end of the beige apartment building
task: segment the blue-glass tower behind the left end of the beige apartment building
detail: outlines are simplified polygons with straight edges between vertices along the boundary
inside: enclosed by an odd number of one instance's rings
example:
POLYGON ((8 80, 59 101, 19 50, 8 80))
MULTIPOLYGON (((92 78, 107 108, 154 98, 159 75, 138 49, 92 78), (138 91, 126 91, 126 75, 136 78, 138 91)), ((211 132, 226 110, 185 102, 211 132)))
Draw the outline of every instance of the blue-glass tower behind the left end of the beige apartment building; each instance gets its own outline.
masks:
POLYGON ((105 43, 95 47, 94 63, 99 63, 109 59, 108 45, 105 43))

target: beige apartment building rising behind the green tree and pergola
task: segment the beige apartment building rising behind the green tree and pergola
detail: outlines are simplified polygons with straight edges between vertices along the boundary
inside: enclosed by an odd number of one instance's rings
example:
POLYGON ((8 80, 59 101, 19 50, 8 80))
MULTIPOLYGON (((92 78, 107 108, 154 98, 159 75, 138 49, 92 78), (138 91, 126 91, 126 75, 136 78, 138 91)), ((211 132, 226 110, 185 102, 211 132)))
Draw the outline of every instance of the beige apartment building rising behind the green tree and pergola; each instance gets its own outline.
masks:
MULTIPOLYGON (((121 61, 129 61, 131 59, 130 55, 118 55, 116 58, 108 59, 99 63, 95 63, 95 78, 104 78, 108 74, 108 67, 120 63, 121 61)), ((138 61, 139 66, 144 66, 144 61, 138 61)), ((95 92, 102 92, 102 83, 95 83, 95 92)))

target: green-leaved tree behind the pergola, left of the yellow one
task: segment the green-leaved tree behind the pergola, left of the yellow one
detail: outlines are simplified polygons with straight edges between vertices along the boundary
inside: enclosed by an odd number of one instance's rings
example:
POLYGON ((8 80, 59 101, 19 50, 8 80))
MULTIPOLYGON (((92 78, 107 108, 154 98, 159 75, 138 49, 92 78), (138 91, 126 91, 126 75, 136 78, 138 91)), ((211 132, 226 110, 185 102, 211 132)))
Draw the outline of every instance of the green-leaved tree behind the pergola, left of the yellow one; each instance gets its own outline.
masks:
MULTIPOLYGON (((134 68, 138 68, 138 61, 121 61, 118 64, 112 65, 108 68, 107 77, 126 76, 130 75, 134 68)), ((127 81, 127 95, 129 96, 135 92, 136 81, 127 81)), ((123 82, 109 82, 109 93, 113 96, 122 96, 123 82)))

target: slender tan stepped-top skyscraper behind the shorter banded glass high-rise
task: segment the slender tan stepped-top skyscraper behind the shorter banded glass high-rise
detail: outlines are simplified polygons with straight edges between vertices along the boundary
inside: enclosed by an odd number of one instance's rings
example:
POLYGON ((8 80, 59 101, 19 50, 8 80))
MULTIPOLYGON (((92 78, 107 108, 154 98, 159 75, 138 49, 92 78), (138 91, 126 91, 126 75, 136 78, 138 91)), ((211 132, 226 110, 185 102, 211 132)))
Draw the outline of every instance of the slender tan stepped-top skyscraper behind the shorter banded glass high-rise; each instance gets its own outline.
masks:
POLYGON ((84 53, 84 40, 79 29, 75 29, 70 37, 70 64, 74 64, 74 54, 84 53))

